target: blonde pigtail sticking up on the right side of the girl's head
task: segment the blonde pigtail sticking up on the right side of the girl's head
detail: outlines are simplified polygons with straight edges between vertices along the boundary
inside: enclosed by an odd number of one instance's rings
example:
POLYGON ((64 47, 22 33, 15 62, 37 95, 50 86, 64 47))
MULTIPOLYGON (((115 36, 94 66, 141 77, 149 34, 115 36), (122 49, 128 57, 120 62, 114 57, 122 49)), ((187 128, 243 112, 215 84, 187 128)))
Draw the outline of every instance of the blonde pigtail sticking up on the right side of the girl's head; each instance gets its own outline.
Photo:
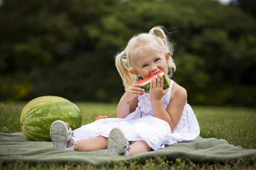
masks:
POLYGON ((174 63, 174 59, 172 58, 172 53, 174 51, 173 47, 172 47, 172 44, 169 42, 168 37, 166 37, 166 34, 163 31, 163 27, 155 26, 151 30, 154 32, 154 36, 159 37, 163 41, 164 46, 171 52, 171 57, 170 57, 169 62, 167 64, 170 68, 168 76, 172 77, 173 72, 176 70, 176 65, 174 63))

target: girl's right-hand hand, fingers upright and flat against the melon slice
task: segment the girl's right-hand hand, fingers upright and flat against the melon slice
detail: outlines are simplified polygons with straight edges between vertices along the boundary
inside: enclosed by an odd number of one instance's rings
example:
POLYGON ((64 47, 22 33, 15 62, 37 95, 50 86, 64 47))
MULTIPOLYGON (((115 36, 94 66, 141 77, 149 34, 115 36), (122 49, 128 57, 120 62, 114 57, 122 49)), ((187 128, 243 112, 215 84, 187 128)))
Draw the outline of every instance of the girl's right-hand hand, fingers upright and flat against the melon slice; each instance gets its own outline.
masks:
POLYGON ((160 76, 159 74, 154 76, 153 79, 151 79, 150 82, 150 99, 151 100, 160 100, 168 91, 168 88, 166 90, 163 90, 163 76, 160 76))

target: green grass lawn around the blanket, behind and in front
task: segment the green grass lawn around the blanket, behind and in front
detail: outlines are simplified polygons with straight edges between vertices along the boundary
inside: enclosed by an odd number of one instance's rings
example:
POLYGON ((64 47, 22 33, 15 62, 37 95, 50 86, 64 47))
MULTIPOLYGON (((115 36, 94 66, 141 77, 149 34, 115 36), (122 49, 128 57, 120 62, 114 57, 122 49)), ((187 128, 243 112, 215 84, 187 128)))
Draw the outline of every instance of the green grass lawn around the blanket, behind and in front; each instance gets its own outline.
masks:
MULTIPOLYGON (((0 132, 14 133, 20 132, 20 112, 26 105, 20 103, 0 103, 0 132)), ((107 115, 108 117, 116 116, 116 104, 100 104, 100 103, 79 103, 83 125, 93 122, 99 115, 107 115)), ((201 136, 203 138, 225 139, 230 144, 241 146, 244 149, 256 149, 256 109, 253 108, 221 108, 221 107, 199 107, 192 106, 197 116, 201 136)), ((96 170, 96 169, 256 169, 256 163, 248 164, 247 161, 239 159, 236 162, 225 164, 195 164, 189 160, 181 161, 177 159, 175 162, 169 162, 164 158, 155 158, 147 160, 141 164, 139 161, 125 162, 121 161, 117 164, 104 167, 93 167, 86 164, 23 164, 16 162, 14 164, 3 165, 0 163, 0 169, 24 169, 24 170, 41 170, 41 169, 65 169, 65 170, 96 170)))

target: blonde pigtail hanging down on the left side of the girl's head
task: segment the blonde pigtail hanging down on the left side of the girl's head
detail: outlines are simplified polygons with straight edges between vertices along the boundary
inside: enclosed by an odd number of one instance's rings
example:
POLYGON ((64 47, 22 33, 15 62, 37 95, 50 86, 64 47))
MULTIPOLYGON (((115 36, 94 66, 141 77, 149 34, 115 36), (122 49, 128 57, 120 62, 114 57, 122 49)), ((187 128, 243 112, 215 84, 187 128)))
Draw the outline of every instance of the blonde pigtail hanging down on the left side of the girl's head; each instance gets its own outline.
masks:
POLYGON ((123 58, 123 56, 123 52, 116 55, 116 68, 122 78, 123 85, 125 86, 126 91, 126 89, 130 85, 133 85, 137 79, 134 74, 131 74, 129 70, 130 66, 128 64, 128 60, 127 58, 123 58))

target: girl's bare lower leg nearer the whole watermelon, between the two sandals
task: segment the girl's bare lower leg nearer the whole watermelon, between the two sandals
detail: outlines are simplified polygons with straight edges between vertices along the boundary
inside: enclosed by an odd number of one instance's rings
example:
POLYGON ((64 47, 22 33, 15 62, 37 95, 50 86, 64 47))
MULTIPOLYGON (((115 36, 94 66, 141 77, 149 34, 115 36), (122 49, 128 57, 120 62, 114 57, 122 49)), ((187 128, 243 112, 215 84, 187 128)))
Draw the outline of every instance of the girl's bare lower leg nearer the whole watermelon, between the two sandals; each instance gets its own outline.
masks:
MULTIPOLYGON (((69 129, 68 123, 66 123, 67 129, 69 129)), ((67 142, 67 148, 72 146, 72 139, 67 142)), ((83 139, 76 141, 76 151, 90 152, 93 150, 101 150, 108 148, 108 138, 98 136, 96 138, 83 139)))

